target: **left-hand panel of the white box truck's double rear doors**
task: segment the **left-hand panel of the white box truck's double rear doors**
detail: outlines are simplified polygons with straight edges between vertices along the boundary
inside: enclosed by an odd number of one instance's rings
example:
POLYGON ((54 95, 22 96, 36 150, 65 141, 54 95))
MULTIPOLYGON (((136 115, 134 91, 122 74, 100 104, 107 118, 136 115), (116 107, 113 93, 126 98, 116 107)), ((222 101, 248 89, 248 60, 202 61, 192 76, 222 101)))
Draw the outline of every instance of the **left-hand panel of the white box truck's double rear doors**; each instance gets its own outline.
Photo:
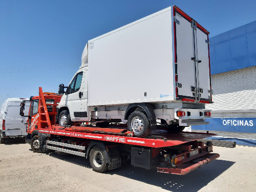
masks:
POLYGON ((195 99, 191 87, 196 88, 194 30, 191 18, 175 9, 175 41, 176 41, 176 86, 179 99, 195 99), (191 59, 192 58, 192 59, 191 59))

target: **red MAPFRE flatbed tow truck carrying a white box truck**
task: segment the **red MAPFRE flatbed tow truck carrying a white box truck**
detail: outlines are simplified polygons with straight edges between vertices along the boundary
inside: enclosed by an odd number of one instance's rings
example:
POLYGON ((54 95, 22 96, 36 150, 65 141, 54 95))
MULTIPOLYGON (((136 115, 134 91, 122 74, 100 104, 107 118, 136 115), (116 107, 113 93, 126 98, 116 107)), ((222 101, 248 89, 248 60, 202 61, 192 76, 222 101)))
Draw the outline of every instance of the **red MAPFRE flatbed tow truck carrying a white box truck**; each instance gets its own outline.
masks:
MULTIPOLYGON (((27 141, 34 152, 53 150, 89 158, 93 170, 99 173, 120 167, 121 162, 130 157, 133 166, 176 175, 185 175, 220 156, 211 153, 211 142, 198 141, 214 134, 173 134, 157 129, 146 138, 138 138, 122 124, 107 128, 82 123, 61 127, 55 122, 60 98, 39 88, 39 96, 31 99, 27 141), (32 108, 35 102, 38 102, 37 113, 32 108)), ((20 114, 23 110, 24 104, 21 104, 20 114)))

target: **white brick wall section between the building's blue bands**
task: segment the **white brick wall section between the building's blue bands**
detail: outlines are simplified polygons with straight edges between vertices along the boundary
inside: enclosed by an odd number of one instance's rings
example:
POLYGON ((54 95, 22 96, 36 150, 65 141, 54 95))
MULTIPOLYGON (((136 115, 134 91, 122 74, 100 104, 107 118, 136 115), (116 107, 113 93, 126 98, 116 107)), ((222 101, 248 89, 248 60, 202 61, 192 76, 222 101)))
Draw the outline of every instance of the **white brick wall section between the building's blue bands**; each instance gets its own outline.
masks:
POLYGON ((212 117, 256 117, 256 66, 212 75, 212 117))

